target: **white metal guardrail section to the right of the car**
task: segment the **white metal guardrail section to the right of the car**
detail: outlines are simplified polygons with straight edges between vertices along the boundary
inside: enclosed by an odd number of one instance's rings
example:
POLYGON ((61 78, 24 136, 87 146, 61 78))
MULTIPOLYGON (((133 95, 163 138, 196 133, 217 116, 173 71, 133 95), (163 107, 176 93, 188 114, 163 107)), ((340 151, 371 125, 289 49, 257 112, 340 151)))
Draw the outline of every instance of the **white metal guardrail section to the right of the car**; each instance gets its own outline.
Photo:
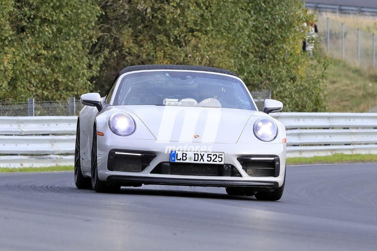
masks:
POLYGON ((287 128, 287 156, 377 154, 377 113, 277 113, 287 128))

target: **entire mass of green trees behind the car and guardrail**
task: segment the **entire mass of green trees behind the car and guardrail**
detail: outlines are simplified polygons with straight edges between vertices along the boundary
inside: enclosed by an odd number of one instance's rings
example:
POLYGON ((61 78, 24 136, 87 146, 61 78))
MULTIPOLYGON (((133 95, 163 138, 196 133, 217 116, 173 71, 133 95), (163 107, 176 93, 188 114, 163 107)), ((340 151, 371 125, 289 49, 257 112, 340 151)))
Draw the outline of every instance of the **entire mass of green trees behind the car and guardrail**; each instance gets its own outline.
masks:
POLYGON ((301 49, 313 19, 301 0, 1 0, 0 100, 106 95, 128 65, 188 64, 323 111, 328 63, 301 49))

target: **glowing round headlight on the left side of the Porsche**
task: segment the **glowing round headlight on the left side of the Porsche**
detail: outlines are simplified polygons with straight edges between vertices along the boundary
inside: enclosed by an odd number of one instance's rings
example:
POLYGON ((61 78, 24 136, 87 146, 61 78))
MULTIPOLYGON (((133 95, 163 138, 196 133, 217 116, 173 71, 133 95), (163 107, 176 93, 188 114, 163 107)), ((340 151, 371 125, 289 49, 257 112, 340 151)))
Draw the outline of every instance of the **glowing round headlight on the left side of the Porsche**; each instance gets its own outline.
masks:
POLYGON ((110 130, 119 136, 128 136, 135 132, 135 120, 127 113, 114 113, 109 118, 110 130))

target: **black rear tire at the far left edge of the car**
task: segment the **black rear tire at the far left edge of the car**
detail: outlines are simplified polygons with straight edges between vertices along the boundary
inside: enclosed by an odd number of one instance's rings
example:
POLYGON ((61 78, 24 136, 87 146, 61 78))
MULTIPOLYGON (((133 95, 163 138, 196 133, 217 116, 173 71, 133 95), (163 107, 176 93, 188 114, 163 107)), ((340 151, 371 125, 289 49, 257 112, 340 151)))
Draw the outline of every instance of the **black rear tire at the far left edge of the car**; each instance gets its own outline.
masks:
POLYGON ((80 146, 80 122, 77 122, 75 143, 75 185, 78 189, 90 189, 90 179, 85 178, 81 172, 81 146, 80 146))

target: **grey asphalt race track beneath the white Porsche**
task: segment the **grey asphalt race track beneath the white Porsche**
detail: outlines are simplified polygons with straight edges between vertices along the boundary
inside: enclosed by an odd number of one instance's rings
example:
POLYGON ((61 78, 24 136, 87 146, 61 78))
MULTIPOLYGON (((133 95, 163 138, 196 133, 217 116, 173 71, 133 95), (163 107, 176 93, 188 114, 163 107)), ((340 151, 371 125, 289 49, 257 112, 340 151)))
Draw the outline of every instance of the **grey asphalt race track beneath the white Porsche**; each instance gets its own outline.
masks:
POLYGON ((377 164, 287 169, 277 202, 222 188, 78 190, 73 172, 0 173, 2 250, 376 250, 377 164))

